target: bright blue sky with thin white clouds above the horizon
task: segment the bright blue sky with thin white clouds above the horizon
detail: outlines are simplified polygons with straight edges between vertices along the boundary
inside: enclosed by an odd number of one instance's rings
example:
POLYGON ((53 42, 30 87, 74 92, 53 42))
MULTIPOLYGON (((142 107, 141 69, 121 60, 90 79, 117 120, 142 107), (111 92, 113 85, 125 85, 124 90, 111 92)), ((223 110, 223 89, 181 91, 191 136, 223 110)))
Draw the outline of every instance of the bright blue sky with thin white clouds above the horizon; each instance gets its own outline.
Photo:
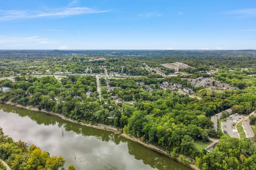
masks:
POLYGON ((256 49, 256 1, 1 0, 0 49, 256 49))

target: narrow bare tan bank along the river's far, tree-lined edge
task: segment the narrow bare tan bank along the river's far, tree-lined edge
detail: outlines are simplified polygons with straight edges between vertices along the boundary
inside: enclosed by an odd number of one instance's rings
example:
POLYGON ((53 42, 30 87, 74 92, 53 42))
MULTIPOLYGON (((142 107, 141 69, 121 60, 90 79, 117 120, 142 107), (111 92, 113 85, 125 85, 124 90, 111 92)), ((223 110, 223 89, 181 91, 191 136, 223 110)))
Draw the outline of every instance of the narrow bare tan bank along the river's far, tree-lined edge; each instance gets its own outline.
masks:
POLYGON ((157 146, 154 146, 153 144, 147 144, 145 142, 143 142, 142 140, 140 140, 139 138, 136 138, 134 136, 130 136, 129 134, 124 134, 123 133, 123 129, 118 129, 118 128, 114 128, 114 127, 109 127, 107 125, 104 125, 104 124, 101 124, 101 123, 98 123, 98 125, 90 125, 90 124, 87 124, 87 123, 81 123, 81 122, 78 122, 78 121, 75 121, 73 119, 70 119, 68 117, 65 117, 64 115, 61 115, 59 113, 52 113, 52 112, 48 112, 48 111, 44 111, 44 110, 39 110, 37 108, 34 108, 34 107, 28 107, 28 106, 22 106, 22 105, 18 105, 18 104, 15 104, 15 103, 12 103, 11 101, 7 101, 7 102, 0 102, 0 103, 4 103, 4 104, 7 104, 7 105, 12 105, 12 106, 16 106, 16 107, 19 107, 19 108, 23 108, 23 109, 27 109, 27 110, 30 110, 30 111, 36 111, 36 112, 40 112, 40 113, 46 113, 48 115, 53 115, 53 116, 56 116, 56 117, 59 117, 65 121, 69 121, 69 122, 72 122, 72 123, 76 123, 78 125, 82 125, 82 126, 86 126, 86 127, 91 127, 91 128, 97 128, 97 129, 101 129, 101 130, 108 130, 108 131, 111 131, 111 132, 114 132, 114 134, 119 134, 120 136, 124 137, 124 138, 127 138, 129 140, 132 140, 134 142, 137 142, 139 144, 141 144, 142 146, 146 147, 146 148, 149 148, 151 150, 154 150, 156 152, 159 152, 160 154, 164 154, 165 156, 168 156, 169 158, 173 159, 173 160, 176 160, 182 164, 184 164, 185 166, 188 166, 194 170, 200 170, 199 168, 197 168, 195 165, 193 164, 185 164, 184 162, 182 162, 181 160, 179 160, 179 158, 175 158, 175 157, 172 157, 170 154, 168 154, 167 152, 165 152, 164 150, 162 150, 161 148, 158 148, 157 146))

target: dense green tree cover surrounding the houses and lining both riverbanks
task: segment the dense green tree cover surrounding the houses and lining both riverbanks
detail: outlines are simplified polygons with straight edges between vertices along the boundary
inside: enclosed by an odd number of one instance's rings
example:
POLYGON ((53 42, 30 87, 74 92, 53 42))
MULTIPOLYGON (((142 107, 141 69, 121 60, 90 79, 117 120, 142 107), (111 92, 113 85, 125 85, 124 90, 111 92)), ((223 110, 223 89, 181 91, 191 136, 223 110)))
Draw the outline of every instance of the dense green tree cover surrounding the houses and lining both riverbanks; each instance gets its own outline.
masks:
MULTIPOLYGON (((20 58, 14 57, 15 54, 12 53, 2 55, 0 65, 4 67, 0 67, 1 77, 13 76, 13 79, 0 80, 0 87, 10 88, 8 92, 0 91, 1 102, 11 101, 22 106, 36 107, 91 125, 102 123, 123 128, 124 133, 154 144, 185 164, 194 164, 203 170, 256 169, 256 138, 230 138, 221 130, 215 131, 210 118, 229 108, 242 115, 255 111, 256 51, 87 51, 86 56, 83 53, 66 56, 66 51, 54 51, 50 54, 46 51, 41 55, 30 52, 26 55, 27 58, 22 55, 20 58), (90 61, 91 57, 104 57, 106 60, 90 61), (39 62, 34 62, 35 60, 39 62), (161 63, 176 61, 194 68, 181 68, 179 71, 184 74, 173 77, 162 77, 146 69, 148 65, 153 69, 162 68, 166 75, 172 74, 174 70, 163 68, 161 63), (99 99, 96 77, 91 73, 102 75, 104 68, 108 73, 112 71, 130 77, 100 77, 102 98, 99 99), (53 74, 44 77, 34 75, 36 71, 46 74, 46 70, 51 73, 66 70, 72 73, 89 73, 88 70, 91 70, 91 73, 63 75, 58 78, 53 74), (209 70, 216 70, 216 73, 208 75, 209 70), (194 87, 190 82, 180 79, 200 76, 215 77, 216 81, 229 83, 238 89, 194 87), (160 85, 164 81, 179 83, 183 87, 192 88, 196 93, 191 97, 180 93, 178 89, 162 90, 160 85), (142 82, 142 85, 138 82, 142 82), (86 95, 88 91, 90 94, 86 95), (205 149, 196 147, 197 142, 207 143, 209 138, 220 139, 216 148, 206 152, 205 149)), ((255 119, 252 120, 251 124, 255 125, 255 119)), ((17 142, 10 140, 9 143, 14 149, 22 150, 16 146, 17 142)), ((11 153, 2 154, 4 144, 1 146, 1 158, 15 167, 12 163, 15 156, 11 153)), ((46 154, 36 146, 30 146, 24 152, 32 154, 34 150, 38 154, 46 154)), ((46 154, 45 159, 53 161, 61 158, 51 158, 46 154)), ((30 157, 26 160, 30 160, 30 157)), ((40 166, 46 165, 47 163, 42 163, 40 166)), ((19 166, 26 169, 28 164, 19 166)), ((61 166, 63 165, 58 167, 61 166)))

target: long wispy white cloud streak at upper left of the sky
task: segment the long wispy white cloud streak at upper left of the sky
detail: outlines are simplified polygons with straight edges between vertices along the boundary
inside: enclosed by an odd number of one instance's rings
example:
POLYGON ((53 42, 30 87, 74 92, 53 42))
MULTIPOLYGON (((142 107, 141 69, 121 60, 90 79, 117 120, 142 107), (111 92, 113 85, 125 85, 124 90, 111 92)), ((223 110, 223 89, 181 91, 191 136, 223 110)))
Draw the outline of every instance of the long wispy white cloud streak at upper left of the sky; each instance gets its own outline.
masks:
POLYGON ((0 10, 0 20, 16 20, 42 17, 65 17, 102 12, 109 12, 109 10, 95 10, 86 7, 64 7, 45 11, 0 10))

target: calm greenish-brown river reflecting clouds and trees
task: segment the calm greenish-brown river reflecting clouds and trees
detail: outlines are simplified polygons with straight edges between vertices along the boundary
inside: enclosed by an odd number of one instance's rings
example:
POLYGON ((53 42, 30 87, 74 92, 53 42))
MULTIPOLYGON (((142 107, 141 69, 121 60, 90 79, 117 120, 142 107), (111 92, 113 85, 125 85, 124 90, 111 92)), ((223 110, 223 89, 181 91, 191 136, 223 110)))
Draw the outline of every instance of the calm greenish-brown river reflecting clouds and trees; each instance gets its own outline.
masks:
POLYGON ((191 170, 118 134, 0 103, 4 134, 50 155, 63 156, 77 170, 191 170))

